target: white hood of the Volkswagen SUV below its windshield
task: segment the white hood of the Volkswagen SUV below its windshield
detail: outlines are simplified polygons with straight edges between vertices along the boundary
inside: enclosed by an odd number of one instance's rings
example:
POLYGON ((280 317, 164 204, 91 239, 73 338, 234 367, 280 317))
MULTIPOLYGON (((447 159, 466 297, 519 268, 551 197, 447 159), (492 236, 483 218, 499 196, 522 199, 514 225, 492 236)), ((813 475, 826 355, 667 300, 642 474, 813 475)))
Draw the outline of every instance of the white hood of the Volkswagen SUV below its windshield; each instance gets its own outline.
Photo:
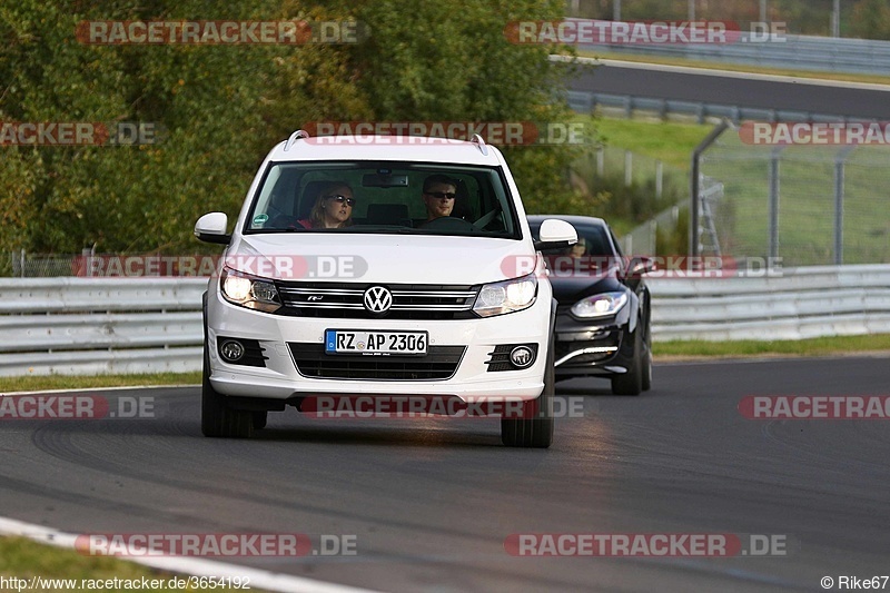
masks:
POLYGON ((531 240, 362 234, 237 237, 226 265, 275 279, 476 285, 535 270, 531 240))

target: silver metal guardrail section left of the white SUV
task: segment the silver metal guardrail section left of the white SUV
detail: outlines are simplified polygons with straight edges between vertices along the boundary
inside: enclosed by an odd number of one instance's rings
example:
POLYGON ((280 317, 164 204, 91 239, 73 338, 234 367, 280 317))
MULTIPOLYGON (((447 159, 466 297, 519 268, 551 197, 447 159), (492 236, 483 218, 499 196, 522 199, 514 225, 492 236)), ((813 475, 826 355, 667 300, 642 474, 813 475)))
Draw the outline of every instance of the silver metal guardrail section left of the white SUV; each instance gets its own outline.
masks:
POLYGON ((200 369, 207 278, 0 279, 0 376, 200 369))

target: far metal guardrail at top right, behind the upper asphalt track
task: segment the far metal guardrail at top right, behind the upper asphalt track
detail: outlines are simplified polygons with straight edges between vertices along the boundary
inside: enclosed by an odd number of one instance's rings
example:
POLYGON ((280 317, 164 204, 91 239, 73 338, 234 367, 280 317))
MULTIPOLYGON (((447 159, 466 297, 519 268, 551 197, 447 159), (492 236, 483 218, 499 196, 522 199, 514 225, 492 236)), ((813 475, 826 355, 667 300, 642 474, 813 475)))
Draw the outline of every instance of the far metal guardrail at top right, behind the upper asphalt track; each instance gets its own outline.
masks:
POLYGON ((756 42, 750 33, 743 32, 739 41, 733 43, 585 43, 580 45, 578 49, 792 70, 880 76, 890 71, 890 41, 871 39, 785 34, 756 42))

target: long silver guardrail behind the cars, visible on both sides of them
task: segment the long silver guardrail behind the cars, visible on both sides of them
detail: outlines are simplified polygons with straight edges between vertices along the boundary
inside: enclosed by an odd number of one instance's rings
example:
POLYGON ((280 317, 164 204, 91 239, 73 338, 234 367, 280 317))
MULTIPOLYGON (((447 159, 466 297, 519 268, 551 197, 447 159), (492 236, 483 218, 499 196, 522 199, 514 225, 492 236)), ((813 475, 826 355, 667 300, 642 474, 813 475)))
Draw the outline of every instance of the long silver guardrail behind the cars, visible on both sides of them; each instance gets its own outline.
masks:
MULTIPOLYGON (((890 333, 890 265, 647 281, 656 340, 890 333)), ((198 370, 206 287, 207 278, 0 279, 0 376, 198 370)))

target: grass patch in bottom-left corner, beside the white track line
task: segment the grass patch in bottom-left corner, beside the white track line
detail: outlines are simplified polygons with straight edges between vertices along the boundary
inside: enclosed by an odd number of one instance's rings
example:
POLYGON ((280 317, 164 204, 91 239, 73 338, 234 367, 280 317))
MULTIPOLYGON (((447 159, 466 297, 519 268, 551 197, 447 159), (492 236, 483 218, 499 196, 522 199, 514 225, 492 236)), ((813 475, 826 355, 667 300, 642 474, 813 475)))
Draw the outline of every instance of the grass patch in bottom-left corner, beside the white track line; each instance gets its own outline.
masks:
MULTIPOLYGON (((26 537, 0 537, 0 575, 7 579, 16 576, 28 580, 31 576, 40 576, 77 581, 73 587, 44 586, 37 591, 88 591, 88 586, 81 586, 85 584, 81 582, 83 579, 141 580, 145 576, 149 581, 161 580, 166 584, 174 576, 171 573, 156 571, 132 562, 108 556, 87 556, 73 550, 41 544, 26 537)), ((178 577, 185 579, 181 575, 178 577)), ((7 589, 14 590, 14 587, 7 589)), ((113 587, 110 590, 116 591, 113 587)), ((122 591, 122 587, 117 591, 122 591)), ((150 591, 198 591, 198 589, 168 589, 165 586, 150 591)))

